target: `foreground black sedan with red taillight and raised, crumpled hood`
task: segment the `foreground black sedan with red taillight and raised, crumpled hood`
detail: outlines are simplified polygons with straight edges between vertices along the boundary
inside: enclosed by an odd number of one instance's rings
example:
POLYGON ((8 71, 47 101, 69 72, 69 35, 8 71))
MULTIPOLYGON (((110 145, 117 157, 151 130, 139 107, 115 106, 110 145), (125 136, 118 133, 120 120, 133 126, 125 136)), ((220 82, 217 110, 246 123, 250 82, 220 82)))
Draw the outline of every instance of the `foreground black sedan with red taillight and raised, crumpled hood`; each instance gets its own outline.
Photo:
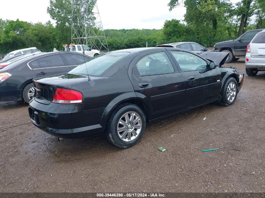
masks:
POLYGON ((57 137, 105 132, 127 148, 140 140, 146 122, 212 102, 233 104, 244 76, 221 67, 227 55, 204 54, 214 63, 176 48, 104 53, 67 74, 34 79, 29 116, 57 137))

